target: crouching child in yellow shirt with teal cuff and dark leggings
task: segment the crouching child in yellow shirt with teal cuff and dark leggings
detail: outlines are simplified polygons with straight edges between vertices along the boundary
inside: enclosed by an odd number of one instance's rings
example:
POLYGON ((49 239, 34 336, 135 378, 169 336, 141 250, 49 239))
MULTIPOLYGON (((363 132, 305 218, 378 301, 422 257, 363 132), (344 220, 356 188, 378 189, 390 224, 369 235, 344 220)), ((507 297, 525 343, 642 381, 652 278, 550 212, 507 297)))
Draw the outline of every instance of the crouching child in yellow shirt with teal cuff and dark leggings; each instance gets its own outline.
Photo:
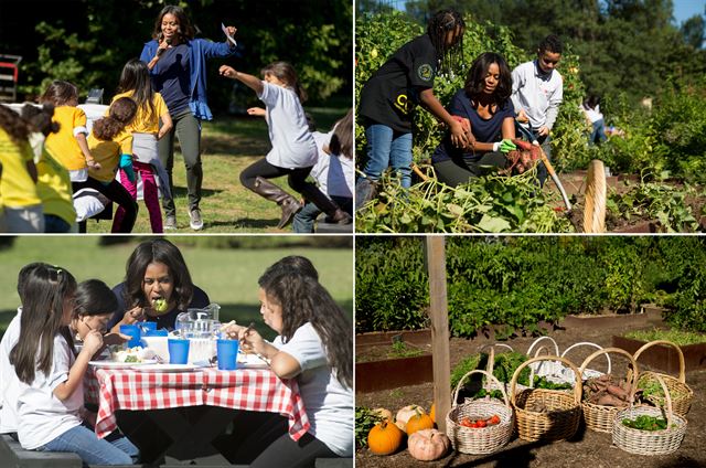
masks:
POLYGON ((90 153, 98 164, 88 169, 88 179, 74 184, 74 191, 90 188, 103 193, 125 210, 122 220, 113 220, 114 233, 130 233, 137 220, 137 202, 115 179, 118 168, 135 180, 132 170, 132 137, 125 131, 135 119, 137 104, 129 97, 116 99, 108 109, 108 116, 96 120, 88 136, 90 153))

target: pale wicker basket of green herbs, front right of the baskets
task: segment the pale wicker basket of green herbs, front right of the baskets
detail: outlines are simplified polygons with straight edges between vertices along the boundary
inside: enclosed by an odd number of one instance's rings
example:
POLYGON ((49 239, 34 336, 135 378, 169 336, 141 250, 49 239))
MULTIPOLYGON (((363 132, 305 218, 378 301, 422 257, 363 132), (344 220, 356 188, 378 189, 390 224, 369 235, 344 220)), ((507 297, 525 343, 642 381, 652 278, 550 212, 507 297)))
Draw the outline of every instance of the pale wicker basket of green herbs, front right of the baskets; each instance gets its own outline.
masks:
POLYGON ((633 406, 616 415, 613 421, 613 444, 622 450, 638 455, 666 455, 676 451, 686 433, 686 419, 673 411, 672 397, 663 375, 655 374, 666 395, 666 414, 654 406, 633 406), (640 430, 622 424, 641 415, 666 417, 666 429, 640 430))

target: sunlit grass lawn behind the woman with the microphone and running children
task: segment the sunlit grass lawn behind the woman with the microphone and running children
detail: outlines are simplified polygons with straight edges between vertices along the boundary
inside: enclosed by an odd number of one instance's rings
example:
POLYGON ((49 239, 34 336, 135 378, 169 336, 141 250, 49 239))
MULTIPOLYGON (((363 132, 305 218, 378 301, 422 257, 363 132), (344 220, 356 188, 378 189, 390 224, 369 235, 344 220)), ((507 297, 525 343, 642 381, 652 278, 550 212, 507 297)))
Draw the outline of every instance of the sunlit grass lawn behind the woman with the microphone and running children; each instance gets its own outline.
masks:
MULTIPOLYGON (((332 99, 328 107, 307 107, 320 131, 329 131, 342 118, 346 107, 342 99, 332 99)), ((203 187, 201 211, 204 221, 203 233, 281 233, 277 223, 281 211, 277 204, 250 192, 240 184, 240 172, 253 162, 265 157, 270 150, 267 124, 264 118, 217 116, 203 123, 201 140, 203 187)), ((184 160, 175 146, 174 155, 174 201, 176 205, 176 233, 193 233, 189 227, 189 204, 186 199, 186 176, 184 160)), ((272 182, 292 195, 299 194, 287 184, 286 178, 272 182)), ((133 233, 150 233, 149 215, 143 202, 138 202, 139 211, 133 233)), ((89 233, 109 233, 111 222, 89 221, 89 233)))

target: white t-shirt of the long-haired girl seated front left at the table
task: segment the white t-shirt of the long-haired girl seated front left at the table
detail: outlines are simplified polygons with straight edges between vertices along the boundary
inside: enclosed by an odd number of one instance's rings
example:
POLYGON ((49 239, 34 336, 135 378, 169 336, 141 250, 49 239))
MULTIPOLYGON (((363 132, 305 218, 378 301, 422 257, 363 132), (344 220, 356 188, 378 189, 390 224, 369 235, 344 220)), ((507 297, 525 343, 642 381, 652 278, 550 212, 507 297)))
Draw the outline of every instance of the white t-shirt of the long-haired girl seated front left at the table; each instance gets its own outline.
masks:
POLYGON ((36 371, 31 385, 20 382, 18 415, 22 424, 18 427, 18 437, 23 448, 32 450, 46 445, 81 425, 78 412, 84 405, 83 381, 63 402, 53 393, 54 389, 68 380, 68 370, 74 361, 68 343, 57 334, 54 337, 54 355, 49 375, 36 371))

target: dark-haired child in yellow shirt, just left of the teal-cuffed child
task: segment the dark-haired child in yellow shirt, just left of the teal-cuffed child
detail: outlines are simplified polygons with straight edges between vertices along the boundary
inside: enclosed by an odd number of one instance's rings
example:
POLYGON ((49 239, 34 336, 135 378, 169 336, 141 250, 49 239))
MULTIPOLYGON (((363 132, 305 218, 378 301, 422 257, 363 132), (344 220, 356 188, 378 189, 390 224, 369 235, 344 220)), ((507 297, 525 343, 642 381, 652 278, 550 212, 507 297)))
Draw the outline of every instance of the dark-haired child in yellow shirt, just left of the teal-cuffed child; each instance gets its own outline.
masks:
POLYGON ((40 103, 54 106, 53 120, 60 125, 57 132, 46 137, 46 148, 68 169, 72 182, 85 182, 88 169, 95 168, 96 161, 86 139, 86 114, 76 107, 78 88, 72 83, 56 79, 40 97, 40 103))

